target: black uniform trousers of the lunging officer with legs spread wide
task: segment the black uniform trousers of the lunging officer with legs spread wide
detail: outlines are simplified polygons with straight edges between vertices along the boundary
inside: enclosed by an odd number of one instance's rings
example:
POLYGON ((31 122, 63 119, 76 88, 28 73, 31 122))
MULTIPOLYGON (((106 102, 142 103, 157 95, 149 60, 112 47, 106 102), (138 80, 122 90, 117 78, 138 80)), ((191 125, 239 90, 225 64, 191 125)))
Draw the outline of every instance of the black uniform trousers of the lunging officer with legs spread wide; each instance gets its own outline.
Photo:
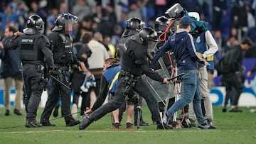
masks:
POLYGON ((97 121, 98 119, 105 116, 107 113, 118 109, 119 106, 121 106, 121 104, 124 102, 125 97, 127 96, 127 94, 125 94, 124 92, 128 92, 129 89, 134 89, 135 92, 137 92, 146 100, 146 103, 149 106, 149 111, 154 116, 154 118, 156 118, 156 122, 160 123, 158 102, 154 98, 153 94, 151 94, 149 87, 142 80, 142 77, 137 77, 137 82, 134 84, 134 87, 126 84, 124 77, 125 76, 119 74, 119 84, 117 87, 117 91, 114 94, 114 98, 108 101, 107 104, 104 104, 102 107, 92 112, 90 114, 90 119, 93 121, 97 121))

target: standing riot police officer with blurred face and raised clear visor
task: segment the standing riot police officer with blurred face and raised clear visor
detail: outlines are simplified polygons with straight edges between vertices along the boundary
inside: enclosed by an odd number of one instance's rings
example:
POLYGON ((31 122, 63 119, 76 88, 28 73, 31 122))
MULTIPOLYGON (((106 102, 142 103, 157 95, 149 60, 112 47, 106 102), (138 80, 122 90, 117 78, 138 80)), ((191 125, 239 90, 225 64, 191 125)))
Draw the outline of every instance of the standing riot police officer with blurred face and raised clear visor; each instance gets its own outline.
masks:
POLYGON ((78 58, 73 53, 73 38, 70 35, 73 31, 73 24, 76 22, 78 22, 78 17, 70 13, 62 13, 55 19, 55 27, 52 33, 48 35, 56 67, 50 76, 52 80, 51 90, 46 101, 46 107, 41 115, 43 126, 55 126, 50 123, 49 118, 59 98, 61 99, 61 111, 65 119, 65 126, 75 126, 80 123, 70 115, 71 90, 68 86, 67 76, 70 65, 80 65, 78 58))

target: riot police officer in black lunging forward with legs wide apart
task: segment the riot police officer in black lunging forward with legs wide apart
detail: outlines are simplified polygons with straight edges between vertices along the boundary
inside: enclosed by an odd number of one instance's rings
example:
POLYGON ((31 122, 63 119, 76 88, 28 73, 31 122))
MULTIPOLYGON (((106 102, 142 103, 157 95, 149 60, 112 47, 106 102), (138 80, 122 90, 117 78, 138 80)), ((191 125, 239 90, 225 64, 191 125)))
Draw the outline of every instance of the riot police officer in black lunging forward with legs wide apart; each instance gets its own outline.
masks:
POLYGON ((156 81, 164 82, 165 84, 169 83, 166 78, 153 72, 146 62, 148 42, 157 40, 157 34, 154 30, 151 28, 142 28, 138 34, 132 36, 132 38, 124 43, 123 47, 120 48, 121 71, 119 73, 119 84, 114 98, 100 107, 100 109, 82 118, 79 126, 80 130, 87 128, 92 121, 97 121, 102 118, 102 116, 105 116, 106 113, 119 108, 124 102, 129 89, 134 89, 135 92, 144 97, 149 106, 149 110, 154 118, 156 118, 158 124, 157 128, 169 128, 161 123, 158 103, 153 94, 149 91, 149 87, 147 87, 146 83, 142 80, 142 74, 146 74, 156 81))

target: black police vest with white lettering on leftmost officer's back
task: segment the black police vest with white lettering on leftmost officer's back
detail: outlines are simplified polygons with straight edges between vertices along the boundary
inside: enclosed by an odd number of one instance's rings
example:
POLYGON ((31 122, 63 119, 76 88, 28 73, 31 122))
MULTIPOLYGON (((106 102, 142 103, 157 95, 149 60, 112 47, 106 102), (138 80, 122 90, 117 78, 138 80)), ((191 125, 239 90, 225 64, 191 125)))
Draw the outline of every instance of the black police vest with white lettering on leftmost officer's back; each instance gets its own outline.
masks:
POLYGON ((38 39, 43 35, 21 35, 21 61, 43 61, 43 52, 38 48, 38 39))

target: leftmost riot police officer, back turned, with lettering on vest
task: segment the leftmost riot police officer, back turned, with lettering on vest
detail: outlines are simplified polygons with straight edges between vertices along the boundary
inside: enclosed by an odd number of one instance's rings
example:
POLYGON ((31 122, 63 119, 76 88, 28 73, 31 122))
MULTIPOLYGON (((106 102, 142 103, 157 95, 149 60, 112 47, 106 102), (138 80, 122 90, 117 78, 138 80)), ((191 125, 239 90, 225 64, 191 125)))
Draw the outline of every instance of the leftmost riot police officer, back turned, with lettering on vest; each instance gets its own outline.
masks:
POLYGON ((26 93, 26 127, 40 127, 36 121, 36 111, 41 100, 41 94, 46 87, 46 65, 53 70, 53 53, 50 42, 45 35, 44 22, 38 15, 28 18, 27 28, 23 33, 14 33, 15 37, 7 40, 5 48, 21 48, 22 74, 26 93), (45 60, 44 60, 45 59, 45 60))

